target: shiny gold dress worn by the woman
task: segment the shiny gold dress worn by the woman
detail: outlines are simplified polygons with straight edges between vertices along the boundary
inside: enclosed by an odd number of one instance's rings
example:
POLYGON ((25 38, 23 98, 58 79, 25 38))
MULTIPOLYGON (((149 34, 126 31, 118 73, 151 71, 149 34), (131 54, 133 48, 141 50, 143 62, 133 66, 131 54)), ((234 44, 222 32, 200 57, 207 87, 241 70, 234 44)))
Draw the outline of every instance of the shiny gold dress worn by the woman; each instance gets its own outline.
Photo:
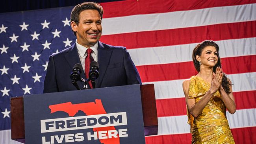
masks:
MULTIPOLYGON (((196 103, 210 89, 211 83, 192 76, 189 83, 189 98, 196 103)), ((194 118, 187 110, 188 124, 191 125, 192 144, 234 144, 234 138, 226 118, 226 107, 219 91, 213 94, 202 112, 194 118)))

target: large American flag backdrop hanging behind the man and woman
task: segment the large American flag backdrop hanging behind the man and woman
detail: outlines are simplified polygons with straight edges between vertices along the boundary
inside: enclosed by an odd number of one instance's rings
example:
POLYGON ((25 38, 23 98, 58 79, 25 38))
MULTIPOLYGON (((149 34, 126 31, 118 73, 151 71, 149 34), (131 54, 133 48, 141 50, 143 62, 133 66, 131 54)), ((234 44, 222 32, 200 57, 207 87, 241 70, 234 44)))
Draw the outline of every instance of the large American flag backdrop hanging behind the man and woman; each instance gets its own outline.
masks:
MULTIPOLYGON (((197 72, 196 44, 219 47, 237 111, 227 112, 237 144, 256 142, 256 0, 125 0, 104 8, 100 41, 126 46, 143 84, 154 83, 158 135, 147 144, 189 144, 182 81, 197 72)), ((43 92, 48 57, 72 44, 73 7, 0 14, 0 144, 10 140, 11 97, 43 92)), ((69 79, 69 78, 68 78, 69 79)))

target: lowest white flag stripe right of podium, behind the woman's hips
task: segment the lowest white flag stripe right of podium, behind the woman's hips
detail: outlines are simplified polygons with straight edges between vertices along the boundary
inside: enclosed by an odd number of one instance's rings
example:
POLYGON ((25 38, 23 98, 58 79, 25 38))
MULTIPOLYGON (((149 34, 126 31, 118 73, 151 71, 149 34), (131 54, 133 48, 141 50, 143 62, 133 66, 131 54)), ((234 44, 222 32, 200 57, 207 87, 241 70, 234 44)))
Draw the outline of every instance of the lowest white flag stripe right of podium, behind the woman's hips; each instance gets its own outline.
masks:
MULTIPOLYGON (((226 112, 230 129, 256 126, 256 109, 241 109, 235 114, 226 112)), ((158 118, 158 135, 190 133, 187 116, 167 116, 158 118)))

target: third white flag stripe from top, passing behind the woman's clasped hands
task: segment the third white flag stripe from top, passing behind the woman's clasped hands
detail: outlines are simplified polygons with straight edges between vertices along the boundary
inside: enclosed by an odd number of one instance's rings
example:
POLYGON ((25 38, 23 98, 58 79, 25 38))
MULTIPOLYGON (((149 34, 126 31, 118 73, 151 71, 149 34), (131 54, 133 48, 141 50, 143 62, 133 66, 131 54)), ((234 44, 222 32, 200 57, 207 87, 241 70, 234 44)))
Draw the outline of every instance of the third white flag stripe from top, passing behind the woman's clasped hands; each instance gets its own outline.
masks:
MULTIPOLYGON (((232 85, 233 92, 256 90, 256 72, 229 74, 228 78, 234 83, 232 85)), ((154 83, 156 99, 183 98, 182 82, 184 80, 145 82, 143 84, 154 83)))

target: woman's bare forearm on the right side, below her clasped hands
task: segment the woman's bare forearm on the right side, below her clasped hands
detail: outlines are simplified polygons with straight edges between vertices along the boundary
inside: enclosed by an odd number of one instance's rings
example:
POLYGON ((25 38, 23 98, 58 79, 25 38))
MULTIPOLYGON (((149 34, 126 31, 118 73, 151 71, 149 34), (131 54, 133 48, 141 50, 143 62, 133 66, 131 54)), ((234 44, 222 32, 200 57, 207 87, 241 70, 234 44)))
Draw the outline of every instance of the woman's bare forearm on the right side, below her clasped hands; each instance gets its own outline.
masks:
MULTIPOLYGON (((229 79, 228 79, 228 83, 231 83, 229 79)), ((219 92, 221 93, 222 100, 226 108, 228 109, 228 112, 231 114, 234 114, 236 112, 236 103, 232 93, 232 85, 230 85, 229 89, 230 89, 230 94, 227 94, 221 85, 219 88, 219 92)))

